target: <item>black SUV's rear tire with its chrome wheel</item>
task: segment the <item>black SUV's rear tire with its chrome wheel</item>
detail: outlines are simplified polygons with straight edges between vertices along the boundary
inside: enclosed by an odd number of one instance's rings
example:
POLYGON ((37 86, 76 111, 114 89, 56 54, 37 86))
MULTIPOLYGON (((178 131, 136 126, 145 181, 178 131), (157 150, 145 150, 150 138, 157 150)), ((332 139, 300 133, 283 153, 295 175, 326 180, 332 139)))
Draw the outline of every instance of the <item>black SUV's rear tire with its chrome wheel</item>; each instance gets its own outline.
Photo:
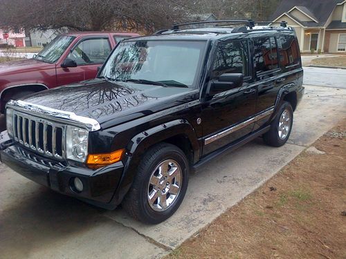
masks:
POLYGON ((293 108, 289 102, 284 102, 271 122, 271 128, 263 135, 264 142, 269 146, 282 146, 289 139, 292 124, 293 108))

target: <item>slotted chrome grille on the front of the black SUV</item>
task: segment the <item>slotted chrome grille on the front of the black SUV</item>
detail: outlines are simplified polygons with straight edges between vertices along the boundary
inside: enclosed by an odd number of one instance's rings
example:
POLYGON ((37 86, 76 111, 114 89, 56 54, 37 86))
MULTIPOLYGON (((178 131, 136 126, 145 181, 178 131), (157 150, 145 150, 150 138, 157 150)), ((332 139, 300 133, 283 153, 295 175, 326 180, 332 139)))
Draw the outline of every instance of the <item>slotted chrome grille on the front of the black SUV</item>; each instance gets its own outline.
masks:
POLYGON ((20 144, 47 157, 64 157, 65 126, 13 111, 13 137, 20 144))

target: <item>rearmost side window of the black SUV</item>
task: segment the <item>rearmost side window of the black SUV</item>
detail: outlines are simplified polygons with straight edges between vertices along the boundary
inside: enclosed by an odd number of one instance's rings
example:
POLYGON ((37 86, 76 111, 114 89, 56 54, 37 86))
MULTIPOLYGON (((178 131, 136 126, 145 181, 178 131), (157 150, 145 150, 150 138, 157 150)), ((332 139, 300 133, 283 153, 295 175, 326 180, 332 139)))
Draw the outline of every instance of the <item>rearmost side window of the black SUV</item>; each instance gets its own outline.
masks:
POLYGON ((293 35, 280 35, 277 38, 280 54, 280 66, 284 70, 294 69, 299 64, 299 50, 297 40, 293 35))

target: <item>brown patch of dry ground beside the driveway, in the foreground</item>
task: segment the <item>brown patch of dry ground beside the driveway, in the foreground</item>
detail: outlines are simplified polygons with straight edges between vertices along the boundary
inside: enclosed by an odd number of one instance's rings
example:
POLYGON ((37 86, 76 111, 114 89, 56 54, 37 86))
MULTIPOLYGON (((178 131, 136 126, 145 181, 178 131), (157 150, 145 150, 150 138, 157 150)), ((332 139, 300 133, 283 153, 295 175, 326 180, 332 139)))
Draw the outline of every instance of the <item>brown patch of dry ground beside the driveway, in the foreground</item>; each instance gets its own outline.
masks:
POLYGON ((167 258, 346 258, 346 120, 167 258), (325 153, 323 153, 325 152, 325 153))

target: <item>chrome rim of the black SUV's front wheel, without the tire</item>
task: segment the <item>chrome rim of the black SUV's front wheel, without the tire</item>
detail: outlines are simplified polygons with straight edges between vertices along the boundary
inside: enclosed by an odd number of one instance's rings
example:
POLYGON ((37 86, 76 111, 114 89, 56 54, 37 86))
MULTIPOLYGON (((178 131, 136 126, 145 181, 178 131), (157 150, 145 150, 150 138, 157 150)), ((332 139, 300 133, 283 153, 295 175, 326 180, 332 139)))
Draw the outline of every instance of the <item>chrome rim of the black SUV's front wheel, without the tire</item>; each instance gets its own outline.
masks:
POLYGON ((147 201, 154 211, 165 211, 174 204, 181 190, 181 167, 174 160, 165 160, 152 172, 147 201))

